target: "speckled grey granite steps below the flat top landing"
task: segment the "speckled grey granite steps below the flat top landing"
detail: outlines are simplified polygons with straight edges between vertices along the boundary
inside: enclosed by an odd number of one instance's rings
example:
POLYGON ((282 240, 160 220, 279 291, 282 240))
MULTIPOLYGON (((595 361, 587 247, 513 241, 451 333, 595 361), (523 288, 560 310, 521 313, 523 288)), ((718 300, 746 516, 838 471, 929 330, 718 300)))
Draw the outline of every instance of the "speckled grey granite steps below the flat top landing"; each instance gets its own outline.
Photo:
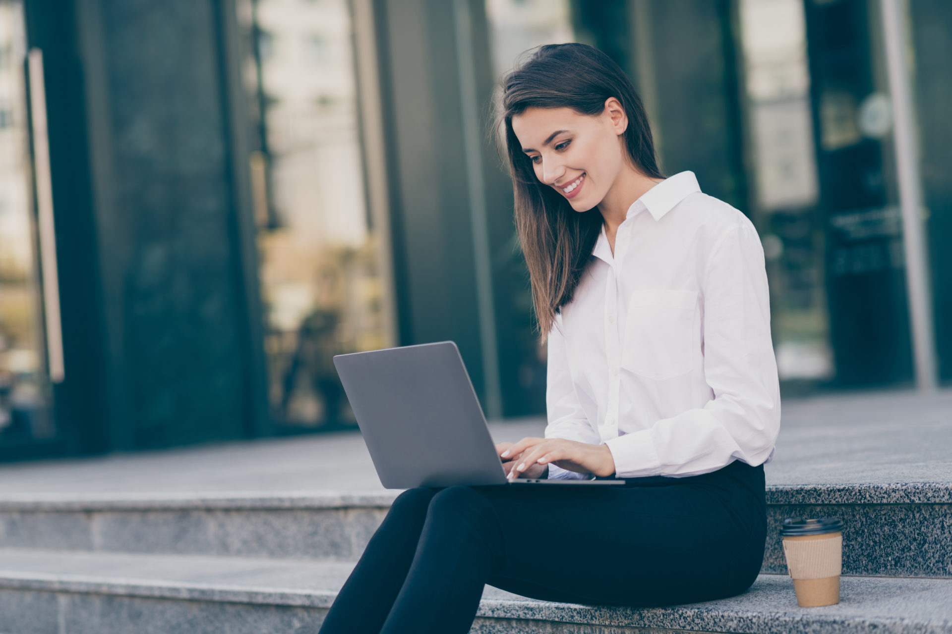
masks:
MULTIPOLYGON (((0 632, 316 632, 398 493, 8 495, 0 632)), ((952 487, 770 486, 767 500, 764 567, 742 595, 639 609, 486 586, 472 631, 952 633, 952 487), (780 525, 802 515, 844 520, 839 605, 796 603, 780 525)))

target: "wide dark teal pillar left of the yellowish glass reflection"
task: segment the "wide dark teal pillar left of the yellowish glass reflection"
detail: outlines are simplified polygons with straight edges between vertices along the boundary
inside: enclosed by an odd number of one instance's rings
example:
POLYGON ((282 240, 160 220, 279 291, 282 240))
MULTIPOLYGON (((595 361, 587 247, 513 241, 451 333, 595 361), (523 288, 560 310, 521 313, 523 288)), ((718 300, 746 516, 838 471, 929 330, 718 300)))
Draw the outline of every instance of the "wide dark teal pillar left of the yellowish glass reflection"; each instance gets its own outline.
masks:
POLYGON ((265 427, 224 4, 77 0, 114 449, 265 427))

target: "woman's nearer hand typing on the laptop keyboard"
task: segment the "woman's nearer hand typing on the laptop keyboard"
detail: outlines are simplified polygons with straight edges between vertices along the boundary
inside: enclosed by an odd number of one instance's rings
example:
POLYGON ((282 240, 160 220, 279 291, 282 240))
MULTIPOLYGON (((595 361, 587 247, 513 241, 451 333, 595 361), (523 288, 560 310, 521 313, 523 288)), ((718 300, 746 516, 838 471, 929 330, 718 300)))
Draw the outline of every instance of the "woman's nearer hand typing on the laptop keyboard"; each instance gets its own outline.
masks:
POLYGON ((607 445, 589 445, 564 438, 523 438, 504 449, 500 456, 516 463, 509 473, 510 478, 517 478, 524 472, 526 477, 537 477, 530 475, 529 470, 536 470, 540 465, 547 467, 550 463, 567 471, 588 472, 601 477, 615 472, 615 459, 607 445))

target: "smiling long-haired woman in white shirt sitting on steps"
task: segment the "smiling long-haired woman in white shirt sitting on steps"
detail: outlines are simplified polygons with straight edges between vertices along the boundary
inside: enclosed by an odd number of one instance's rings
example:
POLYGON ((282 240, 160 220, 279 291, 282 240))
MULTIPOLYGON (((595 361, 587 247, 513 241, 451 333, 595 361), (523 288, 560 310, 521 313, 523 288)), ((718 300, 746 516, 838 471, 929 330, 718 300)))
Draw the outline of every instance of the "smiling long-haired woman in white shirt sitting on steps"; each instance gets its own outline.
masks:
POLYGON ((467 632, 485 584, 677 605, 761 569, 780 394, 756 230, 692 172, 664 178, 641 101, 597 49, 538 48, 504 87, 548 426, 497 450, 514 477, 625 487, 404 491, 324 634, 467 632))

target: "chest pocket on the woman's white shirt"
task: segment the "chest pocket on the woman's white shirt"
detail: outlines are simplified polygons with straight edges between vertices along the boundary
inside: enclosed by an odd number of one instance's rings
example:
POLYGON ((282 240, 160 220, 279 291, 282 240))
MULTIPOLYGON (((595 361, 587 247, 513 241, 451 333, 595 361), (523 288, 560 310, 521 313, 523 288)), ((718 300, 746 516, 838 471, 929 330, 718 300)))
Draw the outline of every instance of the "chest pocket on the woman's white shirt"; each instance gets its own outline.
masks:
POLYGON ((622 367, 654 380, 689 373, 697 302, 696 291, 633 291, 625 323, 622 367))

